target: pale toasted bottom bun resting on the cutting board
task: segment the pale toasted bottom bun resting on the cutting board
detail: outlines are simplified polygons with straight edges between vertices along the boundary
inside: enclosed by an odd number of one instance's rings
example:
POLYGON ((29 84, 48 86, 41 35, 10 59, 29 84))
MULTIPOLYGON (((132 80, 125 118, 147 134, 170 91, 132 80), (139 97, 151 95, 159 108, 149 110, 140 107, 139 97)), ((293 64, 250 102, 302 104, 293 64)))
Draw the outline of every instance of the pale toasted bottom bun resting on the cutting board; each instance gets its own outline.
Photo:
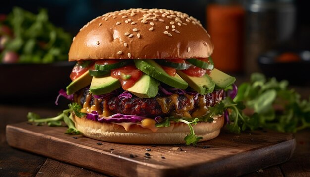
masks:
MULTIPOLYGON (((185 123, 171 123, 169 127, 158 128, 156 132, 131 124, 129 130, 114 123, 101 123, 86 118, 73 116, 75 127, 84 136, 107 142, 127 144, 185 144, 184 138, 190 134, 185 123)), ((223 116, 213 123, 199 122, 193 125, 195 134, 203 137, 200 141, 207 141, 218 136, 224 124, 223 116)))

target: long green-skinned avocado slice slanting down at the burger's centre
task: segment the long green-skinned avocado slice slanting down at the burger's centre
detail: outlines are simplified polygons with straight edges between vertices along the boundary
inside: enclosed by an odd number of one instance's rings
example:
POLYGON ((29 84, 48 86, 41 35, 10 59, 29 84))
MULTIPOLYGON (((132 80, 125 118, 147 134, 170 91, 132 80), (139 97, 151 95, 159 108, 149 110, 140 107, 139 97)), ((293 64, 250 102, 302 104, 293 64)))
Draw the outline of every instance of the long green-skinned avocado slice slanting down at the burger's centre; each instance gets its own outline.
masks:
POLYGON ((178 75, 170 76, 153 60, 134 60, 136 67, 147 75, 174 88, 186 89, 188 84, 178 75))

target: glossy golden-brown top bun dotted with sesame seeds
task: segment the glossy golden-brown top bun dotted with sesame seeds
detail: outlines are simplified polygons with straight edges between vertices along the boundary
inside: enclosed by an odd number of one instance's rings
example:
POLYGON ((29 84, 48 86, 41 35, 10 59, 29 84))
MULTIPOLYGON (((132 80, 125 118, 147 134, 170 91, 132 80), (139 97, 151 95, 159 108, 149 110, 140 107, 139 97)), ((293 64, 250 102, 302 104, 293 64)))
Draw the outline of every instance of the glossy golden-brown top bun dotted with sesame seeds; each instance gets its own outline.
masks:
POLYGON ((166 9, 129 9, 88 22, 73 38, 69 61, 207 58, 210 35, 200 21, 166 9))

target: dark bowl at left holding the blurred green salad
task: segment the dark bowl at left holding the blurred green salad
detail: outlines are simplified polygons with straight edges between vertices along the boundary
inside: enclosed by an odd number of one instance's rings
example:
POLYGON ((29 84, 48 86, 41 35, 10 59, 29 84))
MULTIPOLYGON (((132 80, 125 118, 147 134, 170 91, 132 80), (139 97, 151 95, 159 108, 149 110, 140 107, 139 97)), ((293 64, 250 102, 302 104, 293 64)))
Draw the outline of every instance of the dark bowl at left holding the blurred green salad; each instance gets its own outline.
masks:
POLYGON ((0 103, 55 100, 71 82, 75 62, 0 64, 0 103))

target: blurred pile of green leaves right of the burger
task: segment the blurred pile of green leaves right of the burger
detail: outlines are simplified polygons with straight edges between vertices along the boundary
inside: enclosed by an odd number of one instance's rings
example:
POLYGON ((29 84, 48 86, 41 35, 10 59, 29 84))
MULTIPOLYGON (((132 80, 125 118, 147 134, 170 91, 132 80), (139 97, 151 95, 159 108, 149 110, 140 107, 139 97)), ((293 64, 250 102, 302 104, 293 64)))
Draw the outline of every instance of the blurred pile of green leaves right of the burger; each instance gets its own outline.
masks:
POLYGON ((239 86, 233 101, 244 103, 253 112, 245 115, 241 108, 227 107, 231 109, 228 128, 233 132, 238 133, 238 127, 242 130, 262 127, 280 132, 296 132, 310 127, 310 98, 301 100, 299 93, 288 88, 286 80, 267 80, 264 75, 253 73, 250 82, 239 86))

